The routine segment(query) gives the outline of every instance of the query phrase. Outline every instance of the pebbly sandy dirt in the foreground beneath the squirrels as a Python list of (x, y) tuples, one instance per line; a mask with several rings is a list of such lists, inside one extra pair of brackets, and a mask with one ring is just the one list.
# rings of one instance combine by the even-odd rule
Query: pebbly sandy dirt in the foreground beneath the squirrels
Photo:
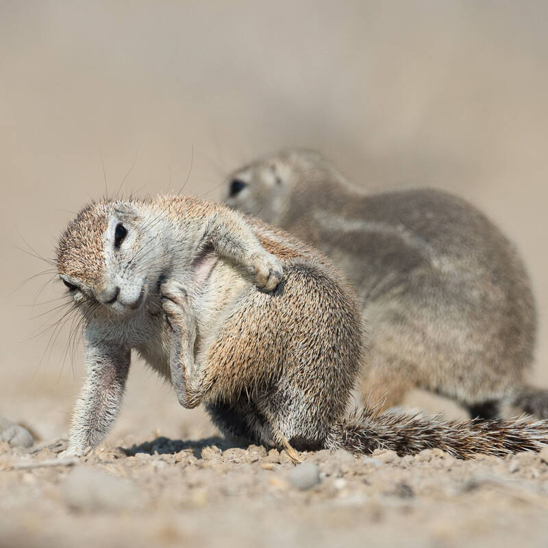
[(123, 438), (73, 466), (50, 449), (29, 456), (0, 446), (0, 545), (548, 542), (548, 451), (473, 461), (431, 449), (404, 458), (319, 451), (295, 466), (285, 452), (219, 438), (139, 442)]

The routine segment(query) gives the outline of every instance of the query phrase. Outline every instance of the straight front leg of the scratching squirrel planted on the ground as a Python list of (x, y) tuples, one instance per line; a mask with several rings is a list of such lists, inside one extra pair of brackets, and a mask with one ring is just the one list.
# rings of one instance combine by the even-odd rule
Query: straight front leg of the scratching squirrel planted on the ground
[(67, 453), (82, 455), (108, 434), (120, 410), (129, 360), (129, 349), (86, 340), (87, 377), (73, 412)]

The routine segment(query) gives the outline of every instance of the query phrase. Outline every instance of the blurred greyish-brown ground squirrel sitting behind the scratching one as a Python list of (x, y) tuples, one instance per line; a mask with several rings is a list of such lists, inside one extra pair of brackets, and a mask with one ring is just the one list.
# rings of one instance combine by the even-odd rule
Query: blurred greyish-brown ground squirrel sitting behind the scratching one
[(525, 384), (534, 297), (513, 245), (466, 201), (432, 189), (369, 194), (319, 153), (260, 158), (232, 175), (225, 202), (334, 260), (366, 325), (362, 395), (401, 403), (411, 388), (471, 416), (548, 418), (548, 393)]

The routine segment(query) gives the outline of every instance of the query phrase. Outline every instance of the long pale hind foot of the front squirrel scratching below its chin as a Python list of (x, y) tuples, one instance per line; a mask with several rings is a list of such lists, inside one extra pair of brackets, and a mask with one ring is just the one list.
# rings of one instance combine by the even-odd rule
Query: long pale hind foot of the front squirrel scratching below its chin
[(203, 387), (194, 360), (196, 321), (186, 290), (175, 280), (160, 287), (162, 308), (169, 322), (169, 367), (171, 384), (184, 408), (195, 408), (201, 402)]

